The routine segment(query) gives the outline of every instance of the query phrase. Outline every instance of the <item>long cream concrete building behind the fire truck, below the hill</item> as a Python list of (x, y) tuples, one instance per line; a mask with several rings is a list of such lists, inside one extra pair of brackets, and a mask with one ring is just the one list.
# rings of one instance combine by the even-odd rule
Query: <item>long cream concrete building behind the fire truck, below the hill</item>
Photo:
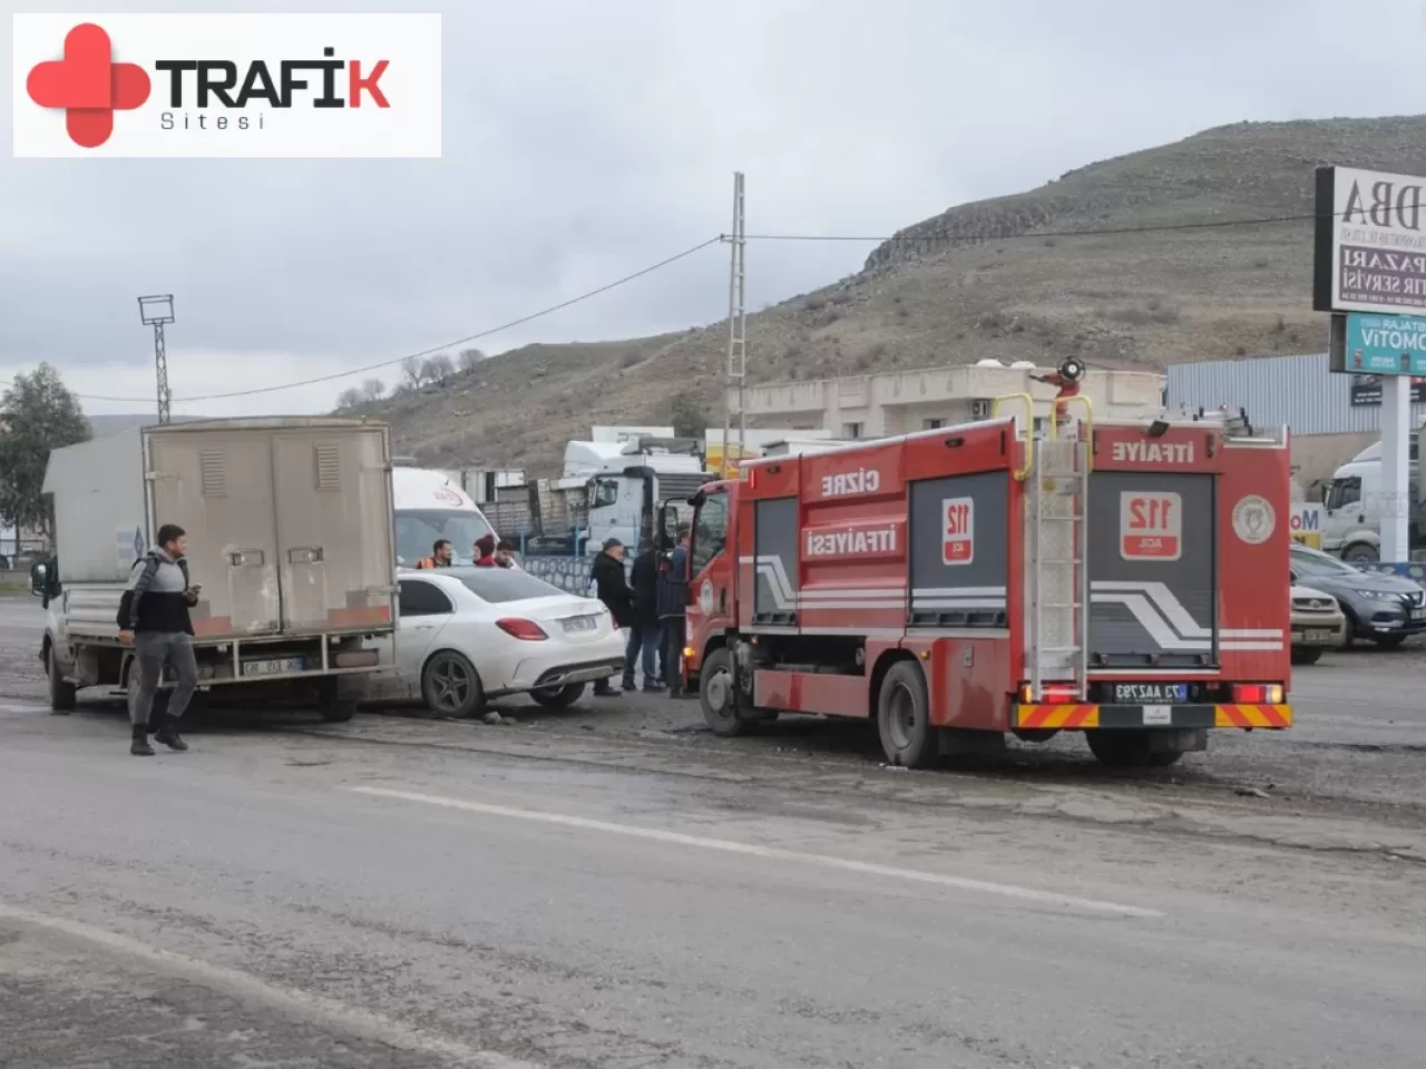
[[(1031, 375), (1048, 371), (963, 365), (749, 386), (747, 426), (830, 430), (848, 439), (887, 438), (984, 419), (991, 401), (1007, 393), (1028, 393), (1037, 415), (1044, 416), (1055, 388), (1035, 382)], [(1162, 410), (1164, 376), (1091, 368), (1084, 393), (1097, 419), (1137, 419)], [(736, 389), (729, 393), (729, 406), (736, 428)]]

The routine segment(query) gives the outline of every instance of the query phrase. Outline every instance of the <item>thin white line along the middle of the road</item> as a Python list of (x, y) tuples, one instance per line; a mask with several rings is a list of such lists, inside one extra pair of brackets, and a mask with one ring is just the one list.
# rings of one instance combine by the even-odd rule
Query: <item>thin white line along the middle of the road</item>
[(509, 805), (489, 805), (486, 802), (466, 801), (463, 798), (448, 798), (439, 794), (395, 791), (386, 787), (342, 787), (339, 790), (352, 791), (354, 794), (369, 794), (376, 798), (395, 798), (399, 801), (425, 802), (426, 805), (443, 805), (449, 810), (483, 812), (491, 817), (511, 817), (513, 820), (556, 824), (565, 828), (579, 828), (582, 831), (603, 831), (610, 835), (629, 835), (632, 838), (653, 840), (655, 842), (672, 842), (680, 847), (719, 849), (726, 854), (744, 854), (747, 857), (767, 858), (771, 861), (799, 861), (809, 865), (821, 865), (823, 868), (840, 868), (846, 872), (910, 879), (918, 884), (937, 884), (940, 887), (954, 887), (961, 891), (978, 891), (983, 894), (1002, 895), (1005, 898), (1018, 898), (1025, 902), (1041, 902), (1045, 905), (1085, 909), (1095, 914), (1164, 916), (1164, 914), (1156, 909), (1144, 909), (1135, 905), (1118, 905), (1117, 902), (1102, 902), (1095, 898), (1078, 898), (1075, 895), (1064, 895), (1057, 891), (1038, 891), (1031, 887), (1015, 887), (1014, 884), (992, 884), (984, 879), (973, 879), (970, 877), (953, 877), (943, 872), (924, 872), (915, 868), (878, 865), (870, 861), (854, 861), (851, 858), (838, 858), (829, 854), (803, 854), (801, 851), (783, 849), (780, 847), (759, 847), (752, 842), (713, 840), (702, 835), (684, 835), (679, 831), (643, 828), (636, 824), (612, 824), (609, 821), (596, 821), (586, 817), (566, 817), (559, 812), (543, 812), (540, 810), (516, 810)]

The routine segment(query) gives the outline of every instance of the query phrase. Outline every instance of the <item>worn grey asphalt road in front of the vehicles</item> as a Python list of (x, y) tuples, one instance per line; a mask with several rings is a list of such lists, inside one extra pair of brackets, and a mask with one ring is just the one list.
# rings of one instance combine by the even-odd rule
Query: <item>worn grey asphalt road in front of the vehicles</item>
[[(1423, 777), (1342, 785), (1405, 775), (1419, 653), (1302, 670), (1298, 733), (1172, 777), (891, 771), (643, 696), (138, 760), (37, 701), (33, 620), (0, 604), (6, 1069), (1422, 1063)], [(1320, 791), (1221, 768), (1302, 761)]]

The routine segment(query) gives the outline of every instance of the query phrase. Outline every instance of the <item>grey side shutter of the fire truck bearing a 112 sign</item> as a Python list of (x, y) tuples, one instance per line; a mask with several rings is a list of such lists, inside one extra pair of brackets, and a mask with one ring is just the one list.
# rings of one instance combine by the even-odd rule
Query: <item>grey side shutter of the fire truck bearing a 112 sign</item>
[(911, 483), (911, 627), (1005, 627), (1010, 472)]

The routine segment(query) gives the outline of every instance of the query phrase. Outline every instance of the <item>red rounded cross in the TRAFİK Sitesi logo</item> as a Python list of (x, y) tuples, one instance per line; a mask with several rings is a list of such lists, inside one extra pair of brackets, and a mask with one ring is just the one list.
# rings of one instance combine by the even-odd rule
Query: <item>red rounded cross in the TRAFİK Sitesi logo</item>
[(114, 133), (114, 111), (148, 100), (148, 71), (114, 63), (108, 34), (94, 23), (70, 30), (64, 58), (37, 64), (24, 83), (41, 108), (64, 108), (64, 128), (84, 148), (97, 148)]

